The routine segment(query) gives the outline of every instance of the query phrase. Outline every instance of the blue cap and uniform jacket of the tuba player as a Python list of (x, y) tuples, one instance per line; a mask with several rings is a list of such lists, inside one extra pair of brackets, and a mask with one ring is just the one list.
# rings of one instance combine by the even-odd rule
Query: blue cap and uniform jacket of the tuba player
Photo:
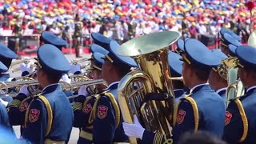
[[(192, 38), (185, 42), (185, 54), (182, 55), (182, 59), (198, 68), (210, 69), (220, 64), (202, 42)], [(180, 100), (174, 112), (174, 119), (176, 124), (172, 131), (173, 136), (154, 134), (145, 130), (141, 143), (177, 143), (178, 138), (189, 130), (206, 130), (222, 136), (224, 102), (209, 84), (202, 83), (191, 88), (190, 94)]]

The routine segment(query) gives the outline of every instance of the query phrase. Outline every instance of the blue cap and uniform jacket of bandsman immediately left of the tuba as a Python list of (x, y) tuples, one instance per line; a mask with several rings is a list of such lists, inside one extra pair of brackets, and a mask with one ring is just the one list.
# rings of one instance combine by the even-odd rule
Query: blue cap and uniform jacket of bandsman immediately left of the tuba
[[(114, 66), (122, 66), (123, 69), (137, 66), (134, 59), (116, 54), (119, 47), (118, 42), (111, 41), (109, 47), (110, 52), (106, 55), (106, 60)], [(122, 128), (123, 120), (118, 107), (117, 88), (118, 82), (111, 83), (106, 89), (107, 92), (101, 94), (94, 103), (93, 118), (91, 119), (94, 127), (94, 143), (128, 142)]]

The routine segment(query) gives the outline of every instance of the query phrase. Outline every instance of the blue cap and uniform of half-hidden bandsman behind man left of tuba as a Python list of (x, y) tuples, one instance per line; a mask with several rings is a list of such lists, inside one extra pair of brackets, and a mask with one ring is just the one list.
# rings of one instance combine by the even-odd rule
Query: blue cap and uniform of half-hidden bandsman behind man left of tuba
[[(94, 62), (92, 62), (93, 66), (91, 66), (91, 68), (94, 68), (96, 70), (102, 70), (102, 65), (104, 63), (104, 60), (102, 58), (104, 57), (105, 56), (103, 54), (94, 52), (94, 54), (92, 55), (92, 59)], [(100, 90), (98, 94), (101, 94), (101, 93), (102, 93), (102, 90)], [(80, 128), (78, 144), (92, 143), (93, 124), (92, 122), (90, 122), (90, 115), (91, 115), (91, 110), (94, 106), (94, 102), (98, 98), (98, 94), (90, 95), (90, 96), (79, 95), (74, 102), (74, 106), (73, 106), (74, 125), (73, 126)]]

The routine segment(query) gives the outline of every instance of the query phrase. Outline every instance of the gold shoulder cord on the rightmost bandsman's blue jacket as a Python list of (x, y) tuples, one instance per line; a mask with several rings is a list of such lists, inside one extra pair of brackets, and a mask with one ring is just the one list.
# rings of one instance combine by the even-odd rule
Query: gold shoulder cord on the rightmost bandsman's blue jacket
[(241, 118), (242, 118), (243, 133), (242, 133), (242, 138), (240, 138), (239, 142), (243, 142), (246, 139), (248, 134), (248, 120), (246, 118), (245, 110), (242, 107), (242, 102), (238, 98), (235, 99), (234, 102), (237, 104), (239, 114), (241, 115)]

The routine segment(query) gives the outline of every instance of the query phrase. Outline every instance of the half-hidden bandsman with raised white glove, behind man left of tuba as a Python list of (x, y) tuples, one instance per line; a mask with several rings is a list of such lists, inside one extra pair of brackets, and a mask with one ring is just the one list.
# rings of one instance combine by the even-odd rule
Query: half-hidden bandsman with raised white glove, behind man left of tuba
[[(94, 80), (102, 78), (102, 65), (104, 63), (103, 54), (98, 52), (94, 52), (92, 55), (92, 66), (91, 76)], [(74, 112), (74, 127), (80, 128), (80, 134), (78, 139), (78, 144), (86, 144), (92, 143), (93, 126), (90, 122), (90, 114), (91, 110), (94, 106), (94, 102), (98, 98), (98, 94), (101, 94), (104, 89), (106, 89), (105, 85), (98, 84), (96, 85), (96, 89), (98, 90), (97, 94), (90, 94), (90, 91), (87, 90), (86, 86), (80, 87), (78, 90), (78, 98), (76, 98), (73, 106)]]

